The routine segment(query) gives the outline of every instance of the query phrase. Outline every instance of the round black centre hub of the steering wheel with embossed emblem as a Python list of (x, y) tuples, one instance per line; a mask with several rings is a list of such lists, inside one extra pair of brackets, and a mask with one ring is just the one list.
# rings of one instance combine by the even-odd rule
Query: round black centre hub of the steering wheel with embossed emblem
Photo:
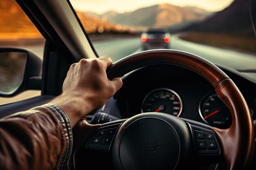
[(183, 155), (180, 136), (184, 137), (186, 125), (180, 119), (176, 121), (177, 117), (162, 113), (140, 115), (143, 116), (128, 119), (119, 129), (113, 165), (124, 170), (175, 169)]

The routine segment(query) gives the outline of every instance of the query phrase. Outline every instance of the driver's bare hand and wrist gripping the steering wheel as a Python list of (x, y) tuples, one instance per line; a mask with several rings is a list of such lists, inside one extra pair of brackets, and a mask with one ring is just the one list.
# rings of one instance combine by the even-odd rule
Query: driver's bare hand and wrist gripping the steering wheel
[(50, 103), (61, 107), (73, 127), (93, 110), (101, 108), (123, 85), (120, 77), (109, 80), (110, 57), (82, 59), (72, 64), (63, 83), (63, 93)]

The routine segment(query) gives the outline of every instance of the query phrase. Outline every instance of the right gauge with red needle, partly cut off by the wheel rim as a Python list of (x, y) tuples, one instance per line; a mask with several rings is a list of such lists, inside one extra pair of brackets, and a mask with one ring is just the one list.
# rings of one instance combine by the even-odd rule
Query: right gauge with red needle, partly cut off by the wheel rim
[(199, 104), (199, 113), (202, 119), (210, 125), (230, 126), (232, 123), (229, 109), (215, 92), (202, 99)]

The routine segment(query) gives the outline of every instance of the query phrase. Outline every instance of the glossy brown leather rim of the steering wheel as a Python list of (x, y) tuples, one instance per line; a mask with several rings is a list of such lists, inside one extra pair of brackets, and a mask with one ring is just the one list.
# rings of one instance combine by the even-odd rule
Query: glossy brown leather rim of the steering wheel
[(150, 65), (169, 64), (195, 71), (207, 79), (229, 108), (232, 124), (227, 129), (212, 128), (222, 144), (227, 170), (247, 169), (254, 155), (254, 126), (247, 103), (236, 84), (216, 65), (191, 53), (176, 50), (149, 50), (129, 55), (110, 66), (109, 79)]

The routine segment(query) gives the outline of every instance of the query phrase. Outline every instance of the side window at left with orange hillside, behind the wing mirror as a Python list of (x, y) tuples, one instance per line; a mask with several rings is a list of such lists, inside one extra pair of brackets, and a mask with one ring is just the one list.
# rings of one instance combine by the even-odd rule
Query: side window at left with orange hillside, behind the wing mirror
[[(12, 46), (26, 48), (34, 51), (38, 56), (43, 58), (45, 39), (15, 0), (0, 0), (0, 16), (0, 47)], [(8, 56), (3, 55), (2, 60), (0, 60), (0, 66), (10, 64), (11, 59), (13, 59), (18, 61), (19, 67), (16, 68), (20, 68), (22, 70), (25, 62), (19, 60), (19, 58), (19, 56), (17, 57), (13, 54)], [(5, 81), (7, 76), (12, 77), (12, 81), (20, 81), (18, 73), (18, 70), (8, 71), (4, 69), (4, 67), (1, 67), (0, 87), (2, 89), (10, 88), (10, 84)], [(14, 97), (0, 97), (0, 105), (40, 96), (40, 94), (41, 91), (39, 90), (29, 90)]]

